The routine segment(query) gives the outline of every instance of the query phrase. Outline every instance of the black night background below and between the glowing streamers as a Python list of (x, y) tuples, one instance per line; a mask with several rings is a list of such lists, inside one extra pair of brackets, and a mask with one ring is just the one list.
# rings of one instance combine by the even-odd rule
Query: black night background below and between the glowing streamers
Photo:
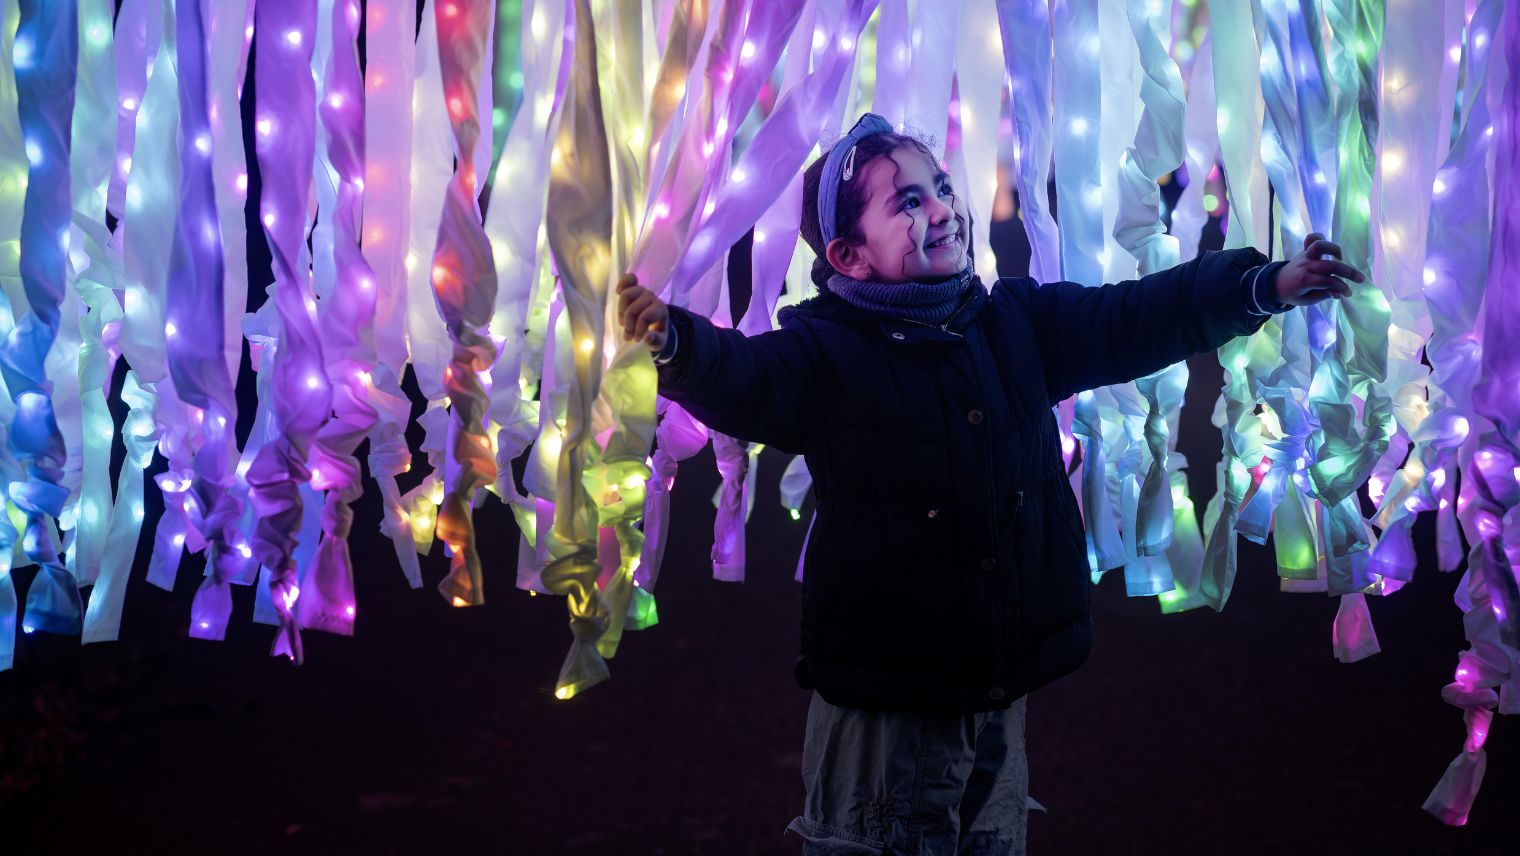
[[(252, 97), (249, 68), (245, 105)], [(254, 216), (249, 207), (257, 304), (269, 257)], [(1021, 224), (993, 228), (1002, 272), (1023, 274)], [(1210, 224), (1205, 248), (1219, 246), (1219, 228)], [(739, 307), (746, 249), (731, 258)], [(1201, 511), (1222, 377), (1213, 354), (1190, 368), (1178, 445), (1195, 462)], [(246, 360), (239, 386), (246, 435)], [(416, 398), (410, 379), (409, 389)], [(796, 853), (781, 830), (803, 800), (809, 696), (792, 683), (792, 575), (807, 509), (792, 522), (780, 508), (784, 465), (775, 452), (760, 458), (743, 584), (710, 573), (711, 453), (682, 465), (661, 623), (625, 637), (613, 680), (572, 701), (552, 695), (570, 643), (565, 605), (512, 588), (517, 528), (494, 500), (476, 515), (491, 596), (454, 610), (432, 590), (447, 569), (438, 550), (424, 560), (427, 585), (406, 587), (366, 493), (351, 538), (356, 636), (306, 632), (299, 667), (269, 655), (272, 628), (249, 622), (251, 590), (236, 591), (223, 643), (190, 640), (199, 560), (175, 591), (154, 588), (144, 537), (120, 642), (27, 636), (0, 674), (0, 851)], [(410, 479), (424, 471), (418, 461)], [(147, 505), (144, 532), (157, 491)], [(1029, 702), (1031, 794), (1050, 809), (1031, 818), (1031, 850), (1499, 853), (1520, 797), (1509, 721), (1488, 739), (1470, 826), (1420, 810), (1465, 736), (1439, 698), (1467, 646), (1452, 604), (1459, 575), (1435, 570), (1432, 534), (1426, 515), (1415, 581), (1370, 599), (1383, 652), (1356, 664), (1332, 655), (1336, 601), (1280, 594), (1269, 547), (1240, 541), (1224, 614), (1163, 617), (1154, 599), (1125, 598), (1122, 575), (1107, 576), (1091, 660)], [(33, 573), (15, 572), (23, 598)]]

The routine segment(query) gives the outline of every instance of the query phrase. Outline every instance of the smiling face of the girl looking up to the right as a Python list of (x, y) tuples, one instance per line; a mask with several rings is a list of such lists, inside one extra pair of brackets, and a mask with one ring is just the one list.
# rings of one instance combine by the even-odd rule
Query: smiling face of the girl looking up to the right
[(950, 176), (912, 146), (865, 166), (865, 208), (856, 228), (865, 239), (836, 237), (827, 248), (834, 271), (879, 283), (932, 283), (965, 269), (970, 216)]

